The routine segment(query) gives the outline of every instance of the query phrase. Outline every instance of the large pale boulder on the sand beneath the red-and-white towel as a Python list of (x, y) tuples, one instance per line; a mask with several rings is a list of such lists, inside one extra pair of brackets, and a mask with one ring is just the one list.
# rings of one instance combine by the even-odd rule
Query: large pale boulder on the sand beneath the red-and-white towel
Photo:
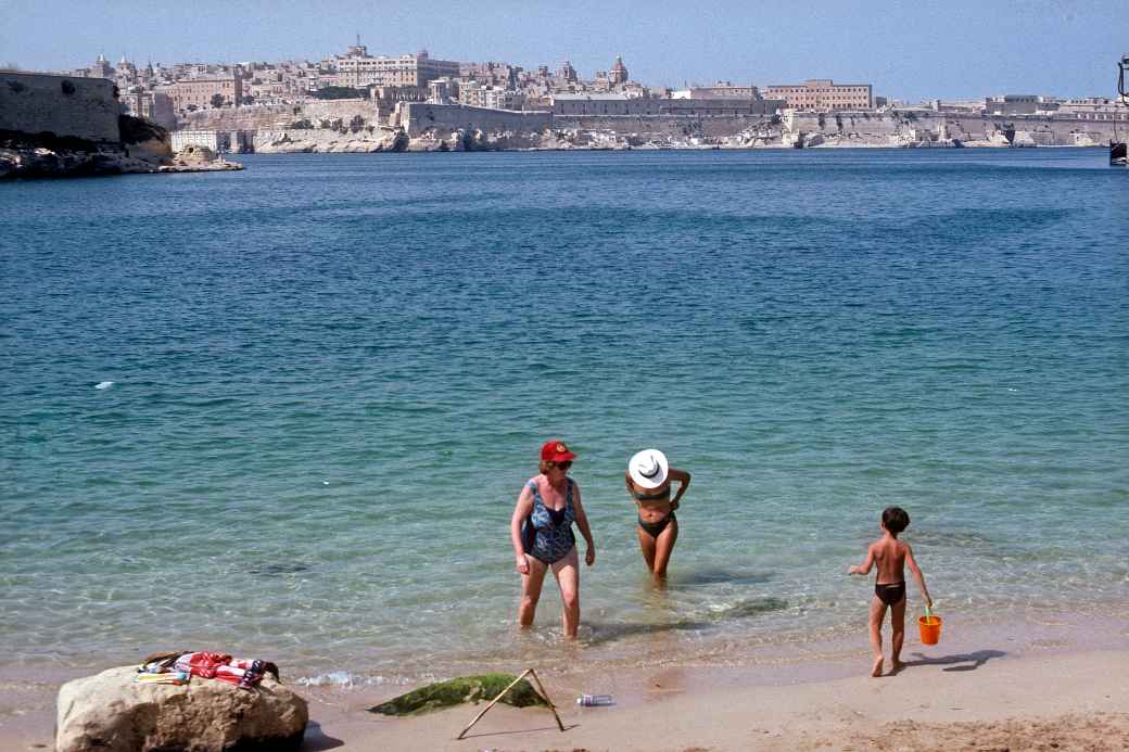
[(264, 677), (254, 690), (193, 679), (183, 687), (134, 682), (126, 666), (59, 690), (56, 752), (297, 750), (306, 701)]

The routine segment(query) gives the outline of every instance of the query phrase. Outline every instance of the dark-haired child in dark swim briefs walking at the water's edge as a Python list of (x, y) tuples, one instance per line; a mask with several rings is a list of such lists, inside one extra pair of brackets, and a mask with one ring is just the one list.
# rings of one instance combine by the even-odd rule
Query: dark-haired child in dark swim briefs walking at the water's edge
[(878, 576), (874, 585), (874, 598), (870, 601), (870, 645), (874, 647), (874, 667), (872, 676), (882, 675), (882, 622), (886, 618), (886, 606), (892, 609), (890, 618), (893, 628), (893, 652), (891, 654), (891, 673), (896, 674), (902, 667), (902, 640), (905, 638), (905, 569), (908, 565), (921, 588), (925, 602), (933, 607), (933, 598), (925, 586), (925, 577), (913, 560), (910, 546), (898, 540), (898, 535), (910, 524), (910, 516), (901, 507), (887, 507), (882, 511), (882, 537), (866, 549), (866, 559), (861, 565), (851, 565), (848, 575), (869, 575), (870, 568), (878, 566)]

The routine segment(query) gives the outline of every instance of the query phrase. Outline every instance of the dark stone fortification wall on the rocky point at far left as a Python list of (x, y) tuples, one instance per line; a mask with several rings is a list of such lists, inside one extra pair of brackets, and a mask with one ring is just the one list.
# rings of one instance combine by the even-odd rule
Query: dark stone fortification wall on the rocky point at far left
[(0, 71), (0, 130), (117, 141), (120, 112), (113, 81)]

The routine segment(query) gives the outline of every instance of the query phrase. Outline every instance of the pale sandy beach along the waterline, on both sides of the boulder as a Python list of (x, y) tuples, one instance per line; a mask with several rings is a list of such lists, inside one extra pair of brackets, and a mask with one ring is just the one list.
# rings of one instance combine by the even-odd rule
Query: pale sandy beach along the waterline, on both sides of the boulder
[[(602, 708), (574, 699), (594, 685), (603, 691), (607, 675), (545, 672), (564, 733), (544, 708), (496, 706), (463, 741), (455, 736), (482, 706), (390, 718), (368, 708), (404, 688), (303, 688), (312, 719), (303, 749), (1127, 750), (1127, 631), (1113, 623), (1078, 630), (1067, 622), (1008, 635), (970, 628), (935, 647), (910, 636), (905, 668), (881, 679), (863, 675), (865, 649), (618, 671), (616, 705)], [(58, 684), (5, 673), (0, 749), (51, 747)]]

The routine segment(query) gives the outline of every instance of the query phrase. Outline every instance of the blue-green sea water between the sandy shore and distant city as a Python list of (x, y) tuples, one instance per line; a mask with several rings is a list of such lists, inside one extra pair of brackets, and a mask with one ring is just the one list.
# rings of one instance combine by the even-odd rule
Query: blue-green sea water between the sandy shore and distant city
[[(0, 185), (5, 662), (739, 658), (858, 630), (891, 504), (949, 618), (1129, 604), (1104, 151), (245, 161)], [(558, 436), (597, 541), (567, 650), (551, 583), (513, 629), (507, 527)], [(647, 446), (693, 473), (666, 591)]]

